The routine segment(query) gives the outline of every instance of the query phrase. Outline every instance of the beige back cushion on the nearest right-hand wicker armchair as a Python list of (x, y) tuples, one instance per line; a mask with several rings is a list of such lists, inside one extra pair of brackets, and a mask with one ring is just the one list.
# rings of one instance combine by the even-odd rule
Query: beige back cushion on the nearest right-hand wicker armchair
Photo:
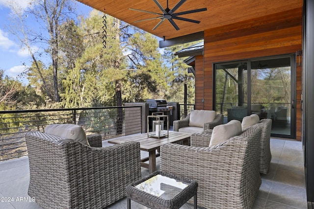
[(231, 120), (229, 123), (217, 125), (212, 130), (209, 147), (216, 146), (227, 139), (240, 135), (241, 132), (241, 122), (238, 120)]

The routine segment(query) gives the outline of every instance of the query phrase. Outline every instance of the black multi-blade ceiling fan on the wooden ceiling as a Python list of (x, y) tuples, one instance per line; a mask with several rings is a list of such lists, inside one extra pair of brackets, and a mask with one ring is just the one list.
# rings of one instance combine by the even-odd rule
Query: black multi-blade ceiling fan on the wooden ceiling
[(156, 30), (156, 28), (165, 20), (168, 20), (176, 30), (180, 30), (178, 25), (173, 21), (173, 19), (176, 20), (181, 20), (181, 21), (187, 21), (191, 23), (200, 23), (200, 21), (192, 20), (192, 19), (187, 19), (187, 18), (182, 18), (178, 17), (180, 15), (186, 15), (186, 14), (191, 14), (195, 12), (202, 12), (202, 11), (207, 11), (207, 8), (202, 8), (202, 9), (193, 9), (185, 12), (178, 12), (174, 13), (186, 0), (180, 0), (172, 9), (168, 8), (168, 0), (167, 0), (167, 8), (163, 8), (161, 4), (158, 2), (158, 0), (154, 0), (154, 2), (157, 4), (159, 9), (161, 10), (162, 13), (157, 13), (157, 12), (150, 12), (150, 11), (145, 11), (145, 10), (140, 10), (140, 9), (133, 9), (130, 8), (131, 10), (138, 11), (138, 12), (146, 12), (154, 15), (159, 15), (159, 17), (156, 18), (149, 18), (149, 19), (144, 19), (144, 20), (139, 20), (135, 21), (134, 23), (142, 22), (142, 21), (149, 21), (149, 20), (155, 20), (155, 19), (161, 19), (159, 23), (153, 28), (153, 30)]

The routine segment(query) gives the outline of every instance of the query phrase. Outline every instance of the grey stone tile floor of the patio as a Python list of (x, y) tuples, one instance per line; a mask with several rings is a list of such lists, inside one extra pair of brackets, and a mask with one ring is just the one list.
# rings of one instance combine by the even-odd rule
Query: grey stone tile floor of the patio
[[(103, 146), (108, 146), (103, 141)], [(262, 186), (253, 209), (307, 209), (302, 143), (271, 139), (272, 160), (268, 173), (262, 175)], [(144, 157), (147, 153), (141, 153)], [(146, 156), (145, 156), (146, 157)], [(158, 169), (157, 159), (157, 169)], [(142, 168), (142, 176), (148, 170)], [(0, 209), (41, 209), (27, 195), (29, 183), (28, 158), (0, 162)], [(131, 202), (132, 209), (147, 209)], [(106, 209), (126, 209), (126, 198)], [(185, 204), (182, 209), (192, 209)]]

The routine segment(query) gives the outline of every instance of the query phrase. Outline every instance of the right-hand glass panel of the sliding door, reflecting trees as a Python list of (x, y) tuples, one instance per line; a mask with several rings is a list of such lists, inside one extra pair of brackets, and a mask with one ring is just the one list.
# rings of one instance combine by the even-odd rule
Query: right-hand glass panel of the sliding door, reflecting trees
[(290, 56), (251, 62), (251, 110), (262, 104), (262, 118), (272, 119), (272, 134), (291, 135)]

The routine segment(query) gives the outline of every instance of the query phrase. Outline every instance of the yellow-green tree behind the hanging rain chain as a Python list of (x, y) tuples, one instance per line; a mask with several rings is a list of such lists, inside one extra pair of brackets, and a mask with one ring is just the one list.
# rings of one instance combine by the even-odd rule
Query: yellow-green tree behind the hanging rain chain
[[(78, 33), (76, 38), (81, 40), (81, 48), (78, 53), (68, 52), (68, 54), (75, 54), (76, 57), (68, 59), (73, 63), (65, 66), (67, 73), (62, 81), (64, 93), (61, 94), (65, 107), (113, 104), (112, 98), (116, 96), (113, 93), (116, 81), (126, 77), (126, 73), (120, 68), (126, 68), (127, 64), (123, 59), (120, 41), (116, 39), (119, 30), (115, 27), (115, 21), (112, 17), (107, 18), (109, 40), (105, 49), (102, 44), (102, 13), (94, 10), (90, 17), (83, 20), (75, 29)], [(73, 31), (73, 26), (67, 28)], [(69, 36), (73, 38), (73, 33), (66, 34), (64, 40), (68, 40)]]

